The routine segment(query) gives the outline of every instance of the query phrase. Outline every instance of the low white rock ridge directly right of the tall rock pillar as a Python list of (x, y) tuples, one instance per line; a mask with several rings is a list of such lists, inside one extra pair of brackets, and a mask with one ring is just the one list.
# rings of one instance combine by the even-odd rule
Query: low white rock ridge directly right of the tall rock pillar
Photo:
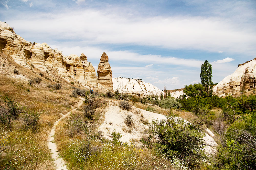
[(137, 95), (139, 97), (144, 97), (147, 95), (164, 95), (164, 92), (157, 88), (156, 86), (145, 83), (141, 80), (136, 79), (126, 79), (126, 78), (113, 78), (113, 90), (119, 93), (128, 93)]

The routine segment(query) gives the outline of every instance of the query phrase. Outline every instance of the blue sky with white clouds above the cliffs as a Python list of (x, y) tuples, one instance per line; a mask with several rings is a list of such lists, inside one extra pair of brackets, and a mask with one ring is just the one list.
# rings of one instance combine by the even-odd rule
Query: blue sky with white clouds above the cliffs
[(105, 52), (112, 77), (162, 90), (200, 83), (205, 60), (218, 83), (256, 57), (255, 0), (0, 0), (0, 21), (95, 70)]

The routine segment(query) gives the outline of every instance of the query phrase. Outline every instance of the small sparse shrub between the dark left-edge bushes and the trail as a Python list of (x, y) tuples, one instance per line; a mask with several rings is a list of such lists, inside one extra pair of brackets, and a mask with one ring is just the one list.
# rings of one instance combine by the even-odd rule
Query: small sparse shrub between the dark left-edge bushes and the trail
[(25, 113), (23, 113), (22, 121), (26, 128), (35, 128), (38, 126), (39, 116), (39, 113), (27, 110)]

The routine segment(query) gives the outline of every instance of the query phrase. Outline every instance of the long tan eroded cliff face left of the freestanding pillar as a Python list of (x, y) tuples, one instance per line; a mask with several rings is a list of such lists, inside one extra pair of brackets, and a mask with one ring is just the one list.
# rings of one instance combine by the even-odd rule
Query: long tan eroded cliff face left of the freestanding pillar
[(81, 85), (97, 87), (96, 72), (84, 54), (80, 57), (64, 56), (57, 48), (51, 49), (46, 43), (32, 44), (1, 21), (0, 50), (22, 66), (35, 67), (42, 72), (47, 69), (56, 69), (58, 74), (68, 82), (77, 81)]

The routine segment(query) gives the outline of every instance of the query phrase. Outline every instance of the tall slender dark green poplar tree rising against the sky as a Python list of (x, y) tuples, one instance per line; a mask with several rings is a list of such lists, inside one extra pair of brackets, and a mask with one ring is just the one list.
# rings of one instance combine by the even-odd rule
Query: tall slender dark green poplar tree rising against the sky
[(202, 85), (205, 87), (205, 92), (207, 93), (207, 96), (211, 96), (213, 87), (213, 83), (211, 81), (212, 70), (211, 64), (207, 60), (205, 60), (205, 62), (201, 66), (200, 78)]

